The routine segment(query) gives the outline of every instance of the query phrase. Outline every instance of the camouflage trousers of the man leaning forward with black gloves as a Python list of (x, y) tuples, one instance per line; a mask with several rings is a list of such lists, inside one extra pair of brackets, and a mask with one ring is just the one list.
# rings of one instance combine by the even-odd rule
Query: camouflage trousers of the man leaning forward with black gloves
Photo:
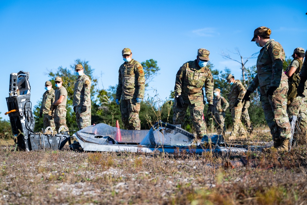
[(191, 120), (193, 127), (196, 130), (197, 138), (202, 138), (204, 135), (207, 135), (207, 126), (202, 119), (205, 107), (203, 101), (197, 102), (195, 104), (191, 104), (190, 101), (185, 101), (183, 107), (179, 108), (177, 107), (177, 99), (175, 98), (173, 104), (173, 124), (184, 123), (184, 118), (188, 107), (190, 109)]

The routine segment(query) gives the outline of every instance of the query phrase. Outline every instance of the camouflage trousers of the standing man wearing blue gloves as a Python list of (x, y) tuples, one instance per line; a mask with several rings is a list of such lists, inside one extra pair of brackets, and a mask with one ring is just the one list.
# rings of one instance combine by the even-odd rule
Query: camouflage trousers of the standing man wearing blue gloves
[(136, 99), (121, 100), (120, 112), (122, 113), (122, 123), (128, 130), (140, 130), (141, 120), (138, 116), (141, 103), (137, 103)]

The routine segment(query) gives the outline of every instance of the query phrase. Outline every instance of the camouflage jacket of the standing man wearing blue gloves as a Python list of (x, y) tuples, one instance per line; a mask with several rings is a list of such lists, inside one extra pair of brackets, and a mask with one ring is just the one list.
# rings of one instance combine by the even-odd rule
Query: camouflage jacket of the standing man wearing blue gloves
[(142, 65), (132, 59), (119, 67), (116, 99), (144, 98), (145, 77)]

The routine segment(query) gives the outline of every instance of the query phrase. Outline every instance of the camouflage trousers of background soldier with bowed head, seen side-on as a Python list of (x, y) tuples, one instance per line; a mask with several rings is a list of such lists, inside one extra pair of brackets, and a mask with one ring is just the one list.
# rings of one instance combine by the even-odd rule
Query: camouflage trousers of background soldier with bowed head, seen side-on
[(241, 122), (242, 107), (243, 107), (243, 104), (239, 102), (237, 107), (233, 107), (230, 109), (232, 123), (233, 123), (230, 137), (233, 139), (235, 138), (237, 133), (239, 133), (240, 137), (246, 137), (246, 129), (244, 128)]

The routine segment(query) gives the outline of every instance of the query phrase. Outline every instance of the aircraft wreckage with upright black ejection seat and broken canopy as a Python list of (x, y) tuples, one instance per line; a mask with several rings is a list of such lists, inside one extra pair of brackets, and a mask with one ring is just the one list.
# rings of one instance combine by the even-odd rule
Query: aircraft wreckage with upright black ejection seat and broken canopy
[(20, 71), (10, 74), (9, 97), (6, 98), (12, 132), (15, 143), (21, 150), (51, 148), (62, 149), (68, 142), (72, 150), (99, 152), (247, 152), (261, 151), (264, 146), (229, 146), (222, 135), (206, 135), (196, 144), (193, 134), (164, 122), (156, 122), (150, 130), (123, 130), (107, 124), (88, 126), (74, 133), (78, 141), (71, 143), (69, 132), (75, 130), (58, 130), (54, 134), (51, 128), (34, 132), (35, 120), (30, 102), (29, 73)]

